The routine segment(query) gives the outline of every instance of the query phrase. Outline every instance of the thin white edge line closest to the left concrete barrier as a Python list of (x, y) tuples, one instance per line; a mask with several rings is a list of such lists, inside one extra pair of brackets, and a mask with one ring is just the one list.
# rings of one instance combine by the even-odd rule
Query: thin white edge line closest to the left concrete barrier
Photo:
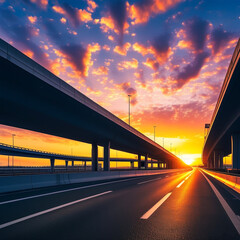
[(137, 178), (134, 178), (134, 179), (123, 179), (123, 180), (117, 180), (117, 181), (111, 181), (111, 182), (105, 182), (105, 183), (97, 183), (97, 184), (87, 185), (87, 186), (83, 186), (83, 187), (70, 188), (70, 189), (65, 189), (65, 190), (60, 190), (60, 191), (55, 191), (55, 192), (33, 195), (33, 196), (29, 196), (29, 197), (17, 198), (17, 199), (12, 199), (12, 200), (8, 200), (8, 201), (0, 202), (0, 205), (13, 203), (13, 202), (18, 202), (18, 201), (23, 201), (23, 200), (32, 199), (32, 198), (54, 195), (54, 194), (58, 194), (58, 193), (76, 191), (76, 190), (85, 189), (85, 188), (93, 188), (93, 187), (108, 185), (108, 184), (112, 184), (112, 183), (126, 182), (126, 181), (130, 181), (130, 180), (135, 180), (135, 179), (138, 179), (138, 178), (140, 178), (140, 177), (137, 177)]

